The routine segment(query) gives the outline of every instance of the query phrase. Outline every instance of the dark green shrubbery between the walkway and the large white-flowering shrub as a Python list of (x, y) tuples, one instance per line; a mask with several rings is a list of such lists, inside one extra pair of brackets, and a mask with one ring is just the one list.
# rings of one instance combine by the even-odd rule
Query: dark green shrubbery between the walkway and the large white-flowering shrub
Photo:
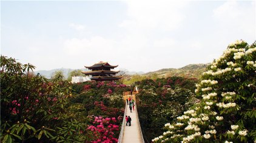
[(160, 135), (163, 125), (195, 103), (196, 79), (169, 77), (136, 82), (137, 108), (146, 140)]

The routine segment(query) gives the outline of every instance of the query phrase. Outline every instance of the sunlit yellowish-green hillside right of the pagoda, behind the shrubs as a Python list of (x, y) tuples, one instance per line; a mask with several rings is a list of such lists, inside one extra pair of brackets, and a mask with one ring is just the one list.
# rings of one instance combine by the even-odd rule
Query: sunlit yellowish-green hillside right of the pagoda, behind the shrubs
[(145, 73), (144, 75), (150, 76), (157, 74), (159, 78), (169, 76), (183, 76), (186, 78), (200, 78), (201, 74), (206, 70), (210, 64), (189, 64), (181, 68), (163, 68), (161, 70)]

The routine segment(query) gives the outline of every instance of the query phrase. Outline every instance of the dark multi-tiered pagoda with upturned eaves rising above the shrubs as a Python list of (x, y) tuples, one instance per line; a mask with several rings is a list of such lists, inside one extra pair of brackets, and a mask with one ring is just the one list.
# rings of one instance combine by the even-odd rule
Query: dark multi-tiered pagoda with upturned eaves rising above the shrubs
[[(84, 66), (86, 67), (86, 66)], [(91, 80), (95, 81), (116, 81), (121, 79), (122, 76), (115, 76), (119, 71), (112, 71), (111, 69), (118, 67), (118, 65), (110, 65), (107, 62), (99, 62), (90, 67), (86, 67), (92, 71), (82, 71), (82, 73), (86, 76), (91, 75)]]

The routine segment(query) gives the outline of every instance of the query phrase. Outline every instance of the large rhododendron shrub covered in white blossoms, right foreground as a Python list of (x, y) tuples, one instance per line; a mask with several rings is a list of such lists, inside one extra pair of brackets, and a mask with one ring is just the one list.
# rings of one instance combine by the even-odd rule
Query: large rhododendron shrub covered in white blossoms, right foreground
[(230, 44), (201, 76), (201, 98), (152, 142), (256, 142), (256, 42)]

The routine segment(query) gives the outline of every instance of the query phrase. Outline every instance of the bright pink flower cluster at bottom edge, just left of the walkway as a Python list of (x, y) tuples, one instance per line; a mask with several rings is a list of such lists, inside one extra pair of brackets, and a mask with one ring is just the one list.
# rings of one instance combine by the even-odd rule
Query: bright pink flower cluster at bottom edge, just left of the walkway
[(95, 117), (93, 125), (90, 125), (87, 130), (93, 131), (93, 135), (96, 137), (96, 142), (118, 142), (118, 139), (114, 138), (115, 131), (119, 130), (119, 126), (112, 124), (115, 123), (115, 118), (102, 118), (101, 116)]

